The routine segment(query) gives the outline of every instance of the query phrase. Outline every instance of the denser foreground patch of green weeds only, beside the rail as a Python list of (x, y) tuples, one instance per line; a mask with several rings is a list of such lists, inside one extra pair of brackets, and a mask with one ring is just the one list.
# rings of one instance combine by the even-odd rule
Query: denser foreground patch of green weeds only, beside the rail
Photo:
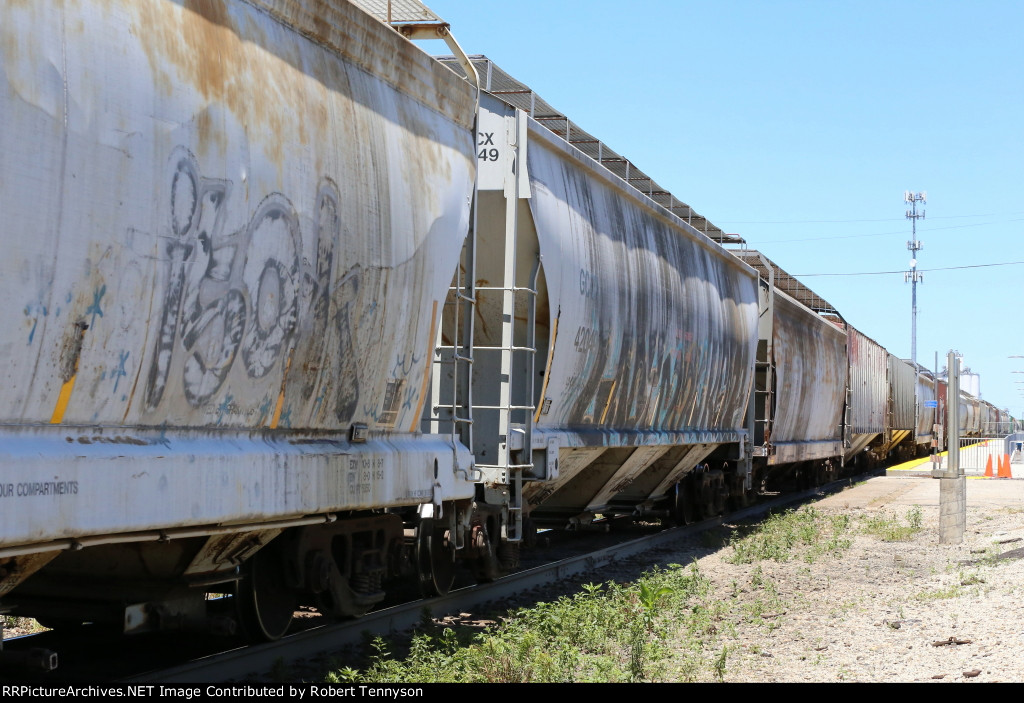
[[(630, 683), (719, 679), (730, 651), (728, 607), (696, 565), (655, 568), (630, 584), (509, 612), (483, 631), (421, 626), (408, 648), (380, 638), (362, 669), (329, 683)], [(711, 652), (709, 656), (707, 651)], [(669, 671), (669, 662), (682, 662)]]

